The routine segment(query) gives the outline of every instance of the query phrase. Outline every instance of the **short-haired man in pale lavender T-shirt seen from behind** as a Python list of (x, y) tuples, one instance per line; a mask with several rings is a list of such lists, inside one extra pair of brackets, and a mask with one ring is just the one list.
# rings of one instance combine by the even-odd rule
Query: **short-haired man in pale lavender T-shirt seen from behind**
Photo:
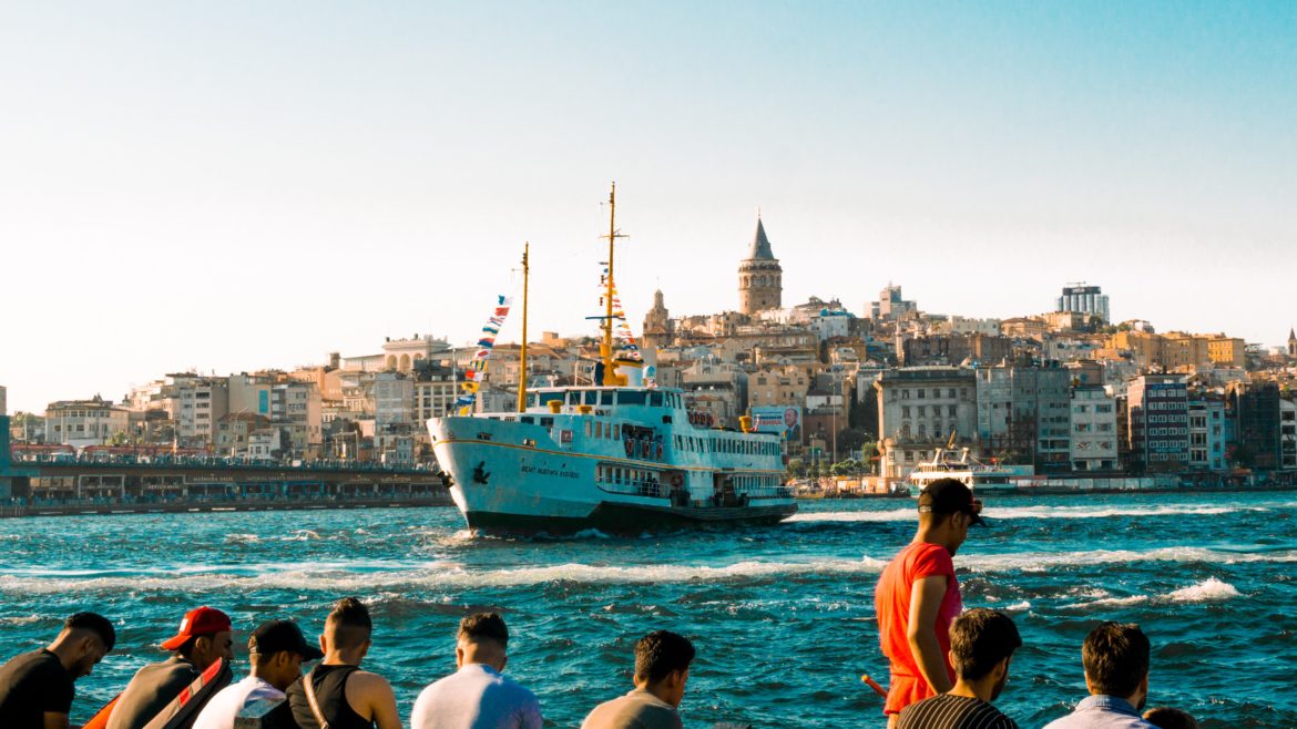
[(494, 612), (459, 621), (455, 667), (419, 694), (411, 729), (541, 729), (541, 704), (532, 691), (503, 675), (508, 628)]

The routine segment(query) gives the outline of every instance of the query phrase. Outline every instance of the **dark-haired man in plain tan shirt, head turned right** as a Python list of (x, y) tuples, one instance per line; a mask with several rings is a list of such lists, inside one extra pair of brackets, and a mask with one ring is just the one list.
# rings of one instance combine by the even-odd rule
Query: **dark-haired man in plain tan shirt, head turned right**
[(581, 729), (684, 729), (681, 699), (689, 682), (694, 645), (669, 630), (654, 630), (636, 643), (636, 689), (604, 702), (581, 723)]

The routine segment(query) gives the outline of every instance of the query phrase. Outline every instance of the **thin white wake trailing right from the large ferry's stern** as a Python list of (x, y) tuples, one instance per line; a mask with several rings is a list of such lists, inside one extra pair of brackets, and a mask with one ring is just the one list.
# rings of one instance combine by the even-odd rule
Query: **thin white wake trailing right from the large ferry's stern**
[[(1285, 508), (1297, 505), (1268, 506), (1206, 506), (1201, 503), (1165, 503), (1157, 506), (1003, 506), (991, 502), (986, 507), (987, 519), (1109, 519), (1113, 516), (1219, 516), (1222, 514), (1259, 512)], [(886, 511), (802, 511), (785, 519), (785, 523), (816, 521), (913, 521), (914, 507), (890, 508)]]

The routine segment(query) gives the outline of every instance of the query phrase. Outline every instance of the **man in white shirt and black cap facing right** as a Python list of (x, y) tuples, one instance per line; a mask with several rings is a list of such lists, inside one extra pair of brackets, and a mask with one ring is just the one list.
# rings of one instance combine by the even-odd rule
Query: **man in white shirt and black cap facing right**
[(239, 712), (258, 700), (284, 700), (284, 691), (302, 675), (303, 660), (319, 660), (324, 654), (302, 637), (291, 620), (262, 623), (248, 637), (252, 672), (211, 697), (193, 729), (233, 729)]

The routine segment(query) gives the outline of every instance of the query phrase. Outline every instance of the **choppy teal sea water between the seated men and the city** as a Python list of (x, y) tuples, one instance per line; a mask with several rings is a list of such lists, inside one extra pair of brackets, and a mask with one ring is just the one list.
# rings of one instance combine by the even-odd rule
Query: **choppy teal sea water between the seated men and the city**
[[(1297, 726), (1297, 494), (997, 497), (955, 559), (966, 607), (1005, 611), (1025, 645), (997, 704), (1023, 728), (1084, 694), (1080, 643), (1100, 620), (1153, 642), (1150, 706), (1204, 726)], [(636, 638), (698, 647), (686, 726), (879, 726), (886, 684), (873, 590), (914, 532), (910, 501), (803, 502), (777, 527), (576, 538), (493, 538), (450, 508), (166, 514), (0, 520), (0, 659), (79, 610), (109, 616), (117, 650), (77, 684), (74, 725), (115, 694), (191, 607), (240, 636), (289, 617), (319, 633), (329, 603), (364, 599), (364, 665), (403, 717), (454, 671), (454, 633), (501, 612), (507, 673), (547, 726), (577, 726), (632, 687)], [(240, 646), (236, 673), (246, 671)]]

